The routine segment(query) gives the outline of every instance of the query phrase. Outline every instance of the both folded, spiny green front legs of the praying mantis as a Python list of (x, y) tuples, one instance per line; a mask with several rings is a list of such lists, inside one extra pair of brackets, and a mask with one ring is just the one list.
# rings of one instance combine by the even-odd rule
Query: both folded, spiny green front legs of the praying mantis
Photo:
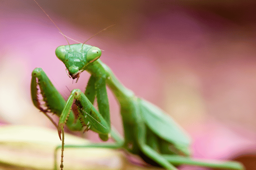
[[(65, 124), (70, 130), (82, 130), (82, 128), (86, 126), (84, 131), (93, 130), (99, 133), (102, 140), (108, 140), (110, 119), (105, 79), (92, 76), (87, 85), (86, 93), (92, 102), (95, 96), (97, 96), (97, 101), (100, 103), (100, 105), (98, 105), (99, 111), (102, 112), (102, 114), (94, 108), (91, 101), (79, 89), (73, 90), (67, 102), (65, 102), (41, 68), (35, 68), (32, 72), (31, 94), (34, 105), (46, 115), (48, 112), (52, 112), (60, 117), (57, 127), (60, 139), (61, 132), (63, 133), (61, 146), (62, 158), (64, 150), (63, 127)], [(41, 101), (39, 96), (41, 96)], [(76, 116), (71, 111), (74, 100), (78, 108), (78, 115)], [(51, 121), (53, 122), (52, 119)], [(62, 162), (63, 159), (61, 159), (61, 169), (63, 168)]]

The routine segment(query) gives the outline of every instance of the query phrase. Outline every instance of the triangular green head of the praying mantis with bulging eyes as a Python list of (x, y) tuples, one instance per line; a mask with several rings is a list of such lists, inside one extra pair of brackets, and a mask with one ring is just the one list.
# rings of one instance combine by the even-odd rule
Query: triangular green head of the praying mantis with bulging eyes
[(91, 45), (72, 44), (59, 46), (55, 54), (66, 65), (68, 74), (76, 79), (91, 63), (99, 59), (101, 50)]

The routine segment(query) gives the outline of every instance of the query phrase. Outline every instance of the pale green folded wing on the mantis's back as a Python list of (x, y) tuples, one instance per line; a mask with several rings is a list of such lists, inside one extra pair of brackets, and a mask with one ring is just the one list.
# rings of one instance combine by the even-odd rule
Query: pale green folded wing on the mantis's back
[(172, 144), (181, 147), (189, 146), (191, 139), (188, 134), (164, 111), (143, 99), (140, 102), (140, 108), (144, 122), (155, 134)]

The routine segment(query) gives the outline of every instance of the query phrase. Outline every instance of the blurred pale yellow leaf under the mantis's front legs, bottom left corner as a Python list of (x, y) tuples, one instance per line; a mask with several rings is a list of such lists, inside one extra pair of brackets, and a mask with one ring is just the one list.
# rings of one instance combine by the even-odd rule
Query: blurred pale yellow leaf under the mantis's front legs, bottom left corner
[[(65, 134), (65, 144), (90, 141)], [(1, 170), (52, 170), (54, 150), (60, 145), (57, 130), (20, 125), (0, 126)], [(57, 154), (60, 165), (61, 150)], [(64, 149), (64, 170), (159, 170), (140, 167), (126, 159), (123, 152), (111, 149)]]

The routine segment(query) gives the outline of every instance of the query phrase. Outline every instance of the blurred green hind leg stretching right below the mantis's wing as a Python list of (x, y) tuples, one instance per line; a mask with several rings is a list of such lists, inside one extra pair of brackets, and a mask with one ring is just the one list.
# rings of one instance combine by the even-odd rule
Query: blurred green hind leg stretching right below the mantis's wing
[(159, 147), (162, 147), (159, 142), (157, 142), (159, 144), (158, 146), (154, 146), (151, 144), (151, 142), (154, 142), (154, 139), (151, 139), (151, 142), (146, 141), (146, 139), (148, 139), (150, 136), (150, 130), (147, 131), (145, 124), (140, 123), (137, 127), (137, 139), (143, 152), (141, 156), (149, 164), (155, 166), (160, 165), (161, 167), (164, 167), (168, 170), (177, 170), (175, 166), (180, 165), (192, 165), (225, 170), (244, 170), (244, 166), (241, 163), (235, 161), (206, 161), (200, 159), (192, 159), (189, 156), (180, 156), (177, 154), (163, 155), (159, 150)]

